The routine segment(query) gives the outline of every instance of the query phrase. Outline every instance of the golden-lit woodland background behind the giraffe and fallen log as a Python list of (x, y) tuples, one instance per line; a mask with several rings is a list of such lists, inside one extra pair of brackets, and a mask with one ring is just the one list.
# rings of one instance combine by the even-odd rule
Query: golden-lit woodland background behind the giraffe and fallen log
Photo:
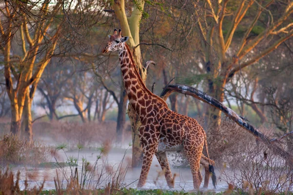
[[(2, 135), (54, 140), (63, 129), (68, 140), (87, 132), (77, 142), (90, 145), (97, 129), (116, 142), (131, 132), (139, 165), (140, 124), (118, 56), (101, 53), (114, 28), (130, 37), (154, 94), (170, 81), (193, 86), (274, 137), (293, 131), (293, 1), (1, 0), (0, 8)], [(219, 110), (175, 93), (167, 103), (201, 118), (210, 145), (227, 141)], [(292, 147), (292, 135), (284, 140)]]

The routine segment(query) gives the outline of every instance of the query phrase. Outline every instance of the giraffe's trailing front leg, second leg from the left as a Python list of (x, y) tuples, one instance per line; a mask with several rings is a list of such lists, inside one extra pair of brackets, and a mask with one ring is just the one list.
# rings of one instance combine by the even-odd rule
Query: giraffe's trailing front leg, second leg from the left
[(172, 178), (171, 169), (170, 169), (170, 165), (169, 165), (169, 162), (167, 159), (166, 152), (156, 153), (156, 156), (157, 156), (158, 161), (161, 165), (161, 168), (165, 174), (165, 178), (166, 178), (166, 181), (167, 181), (169, 188), (174, 188), (174, 181)]

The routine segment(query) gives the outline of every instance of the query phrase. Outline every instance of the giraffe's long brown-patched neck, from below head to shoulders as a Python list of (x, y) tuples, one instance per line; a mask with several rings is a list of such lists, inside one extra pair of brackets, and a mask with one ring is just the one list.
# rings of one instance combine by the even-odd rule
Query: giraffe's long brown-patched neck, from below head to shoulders
[[(129, 103), (140, 119), (143, 120), (146, 117), (146, 107), (148, 104), (152, 103), (154, 98), (161, 98), (153, 95), (146, 88), (146, 85), (144, 84), (134, 64), (132, 53), (126, 43), (124, 48), (119, 51), (119, 60)], [(164, 100), (162, 101), (166, 104)]]

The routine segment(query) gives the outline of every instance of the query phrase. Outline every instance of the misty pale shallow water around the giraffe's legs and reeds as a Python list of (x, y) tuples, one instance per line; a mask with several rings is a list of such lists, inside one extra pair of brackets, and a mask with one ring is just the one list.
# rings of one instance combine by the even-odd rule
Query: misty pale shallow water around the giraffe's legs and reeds
[[(79, 174), (80, 170), (82, 168), (82, 158), (86, 158), (87, 161), (90, 162), (90, 164), (94, 164), (96, 161), (96, 156), (98, 156), (99, 152), (93, 152), (93, 151), (81, 151), (79, 155), (79, 163), (78, 163), (78, 169)], [(77, 152), (66, 152), (67, 156), (74, 156), (77, 157)], [(58, 161), (59, 162), (65, 162), (67, 161), (67, 158), (63, 152), (59, 151), (58, 155)], [(125, 157), (125, 158), (124, 158)], [(118, 151), (110, 151), (107, 155), (107, 163), (110, 166), (118, 167), (121, 160), (124, 158), (124, 164), (126, 165), (127, 162), (129, 162), (131, 158), (131, 150), (127, 150), (126, 155), (124, 156), (124, 153), (118, 152)], [(104, 157), (105, 159), (105, 157)], [(50, 161), (55, 161), (54, 157)], [(102, 162), (102, 160), (99, 160)], [(99, 163), (100, 164), (100, 163)], [(42, 181), (45, 179), (45, 184), (43, 189), (55, 189), (54, 184), (54, 177), (57, 179), (56, 169), (58, 172), (59, 180), (66, 184), (66, 179), (63, 178), (62, 170), (59, 168), (32, 168), (32, 167), (16, 167), (13, 169), (13, 171), (16, 173), (18, 170), (21, 171), (21, 179), (20, 179), (20, 187), (21, 189), (24, 189), (24, 180), (27, 178), (29, 181), (29, 188), (33, 188), (34, 186), (38, 186), (42, 184)], [(70, 168), (65, 167), (64, 170), (67, 173), (67, 176), (70, 176)], [(149, 174), (147, 176), (146, 185), (141, 189), (169, 189), (167, 186), (167, 182), (164, 176), (158, 177), (158, 173), (161, 171), (161, 167), (159, 165), (158, 160), (156, 157), (153, 158), (153, 162), (151, 164), (151, 168), (149, 171)], [(175, 189), (174, 190), (185, 190), (185, 191), (191, 191), (193, 190), (193, 181), (192, 181), (192, 175), (189, 168), (172, 168), (171, 167), (172, 174), (176, 174), (175, 177)], [(123, 183), (125, 183), (125, 186), (127, 188), (137, 188), (137, 182), (140, 176), (141, 168), (131, 168), (129, 167), (125, 179)], [(219, 171), (215, 170), (216, 176), (219, 176)], [(202, 175), (204, 177), (204, 169), (202, 169)], [(156, 182), (155, 182), (156, 181)], [(105, 185), (104, 182), (103, 185)], [(214, 191), (213, 185), (211, 183), (211, 179), (209, 179), (209, 188), (203, 188), (204, 182), (202, 182), (200, 186), (200, 191)], [(221, 181), (217, 179), (217, 190), (215, 192), (222, 192), (225, 191), (228, 188), (228, 185), (226, 182)]]

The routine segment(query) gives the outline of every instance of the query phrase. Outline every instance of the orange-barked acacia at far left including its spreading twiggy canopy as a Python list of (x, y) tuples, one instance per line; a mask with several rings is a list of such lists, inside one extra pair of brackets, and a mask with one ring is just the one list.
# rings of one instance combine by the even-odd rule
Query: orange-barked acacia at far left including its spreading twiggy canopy
[[(31, 103), (44, 68), (54, 54), (82, 45), (92, 25), (89, 21), (99, 21), (102, 13), (99, 3), (93, 6), (88, 3), (6, 0), (0, 5), (0, 48), (13, 134), (20, 135), (23, 118), (24, 136), (32, 140)], [(22, 51), (15, 52), (14, 41), (20, 42)]]

